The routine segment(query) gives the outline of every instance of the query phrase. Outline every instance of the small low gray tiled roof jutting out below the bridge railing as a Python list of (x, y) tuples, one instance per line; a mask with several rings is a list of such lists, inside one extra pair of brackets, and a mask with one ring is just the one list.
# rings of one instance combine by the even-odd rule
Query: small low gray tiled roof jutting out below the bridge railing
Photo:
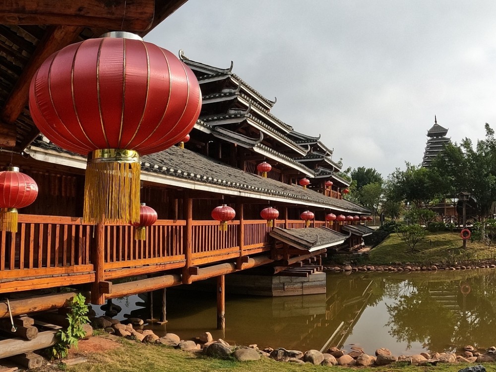
[(326, 227), (302, 229), (275, 227), (269, 234), (271, 237), (290, 243), (294, 247), (308, 250), (330, 247), (349, 237), (349, 235), (338, 233)]

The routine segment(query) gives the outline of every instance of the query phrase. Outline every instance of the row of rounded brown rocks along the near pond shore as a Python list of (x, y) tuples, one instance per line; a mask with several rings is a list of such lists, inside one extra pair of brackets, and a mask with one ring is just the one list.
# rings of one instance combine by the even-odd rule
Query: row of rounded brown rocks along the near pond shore
[[(438, 363), (486, 363), (496, 362), (496, 347), (491, 347), (484, 353), (475, 350), (471, 345), (463, 348), (459, 355), (454, 353), (421, 353), (415, 355), (391, 354), (388, 349), (375, 350), (375, 355), (368, 355), (360, 347), (353, 346), (351, 351), (335, 347), (327, 349), (325, 353), (318, 350), (286, 350), (284, 348), (266, 348), (260, 350), (256, 344), (249, 346), (231, 346), (222, 339), (214, 340), (210, 332), (205, 332), (194, 340), (181, 340), (174, 333), (167, 333), (163, 337), (157, 336), (152, 330), (143, 329), (143, 320), (138, 318), (127, 319), (124, 322), (112, 319), (109, 316), (93, 318), (94, 328), (104, 328), (107, 332), (121, 337), (135, 339), (139, 342), (157, 343), (172, 346), (189, 352), (201, 352), (212, 358), (234, 358), (240, 362), (256, 361), (260, 358), (270, 358), (277, 362), (296, 364), (311, 363), (321, 366), (387, 366), (396, 362), (409, 365), (432, 366)], [(484, 367), (474, 366), (464, 372), (485, 372)]]

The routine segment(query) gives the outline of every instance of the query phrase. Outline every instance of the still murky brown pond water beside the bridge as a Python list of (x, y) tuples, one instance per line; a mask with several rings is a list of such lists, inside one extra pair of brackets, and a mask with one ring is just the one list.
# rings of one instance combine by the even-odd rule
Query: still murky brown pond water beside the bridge
[[(224, 334), (215, 329), (215, 296), (214, 288), (168, 289), (168, 323), (145, 328), (182, 339), (209, 331), (214, 339), (232, 344), (303, 351), (330, 346), (349, 350), (355, 344), (369, 354), (386, 347), (401, 355), (496, 344), (496, 270), (329, 273), (325, 295), (262, 298), (227, 293)], [(124, 309), (118, 317), (149, 318), (142, 298), (114, 300)], [(156, 308), (155, 316), (159, 313)]]

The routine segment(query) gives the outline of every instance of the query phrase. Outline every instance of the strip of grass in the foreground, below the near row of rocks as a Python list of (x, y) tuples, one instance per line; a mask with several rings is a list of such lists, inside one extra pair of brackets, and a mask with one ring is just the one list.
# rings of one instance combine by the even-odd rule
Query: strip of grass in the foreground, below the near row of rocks
[[(109, 337), (109, 336), (98, 336)], [(295, 365), (292, 363), (275, 362), (262, 358), (257, 362), (236, 362), (234, 360), (219, 360), (196, 356), (190, 352), (175, 350), (154, 344), (141, 344), (135, 341), (114, 338), (121, 344), (114, 350), (84, 353), (87, 363), (67, 367), (71, 372), (310, 372), (325, 371), (330, 367), (314, 366), (311, 364)], [(496, 372), (496, 364), (484, 364), (488, 372)], [(438, 365), (436, 367), (386, 366), (360, 368), (363, 372), (457, 372), (467, 365)], [(335, 367), (336, 369), (338, 367)], [(357, 371), (357, 368), (339, 367), (339, 371)]]

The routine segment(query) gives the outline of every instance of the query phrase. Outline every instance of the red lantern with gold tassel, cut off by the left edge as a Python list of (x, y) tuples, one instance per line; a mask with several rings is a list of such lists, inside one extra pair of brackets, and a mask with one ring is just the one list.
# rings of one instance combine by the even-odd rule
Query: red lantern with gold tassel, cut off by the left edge
[(17, 167), (7, 167), (0, 172), (0, 230), (17, 232), (17, 208), (27, 207), (38, 196), (38, 185), (19, 172)]

